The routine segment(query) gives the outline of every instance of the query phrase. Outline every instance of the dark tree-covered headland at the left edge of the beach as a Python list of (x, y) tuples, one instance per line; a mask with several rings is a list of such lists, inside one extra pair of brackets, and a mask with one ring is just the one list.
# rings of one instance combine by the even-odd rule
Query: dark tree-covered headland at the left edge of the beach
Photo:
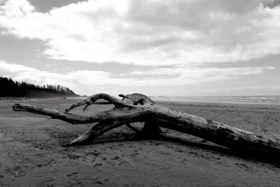
[(57, 97), (78, 96), (62, 85), (34, 85), (24, 81), (13, 81), (0, 76), (0, 97)]

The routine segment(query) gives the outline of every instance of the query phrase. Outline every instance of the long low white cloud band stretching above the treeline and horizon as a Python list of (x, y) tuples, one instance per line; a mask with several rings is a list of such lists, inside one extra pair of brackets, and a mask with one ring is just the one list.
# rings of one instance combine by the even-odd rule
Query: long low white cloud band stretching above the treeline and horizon
[[(114, 78), (105, 71), (73, 71), (67, 74), (59, 74), (25, 67), (20, 64), (8, 64), (0, 60), (0, 76), (10, 76), (17, 81), (27, 81), (39, 85), (66, 85), (70, 88), (76, 88), (78, 85), (82, 85), (83, 88), (87, 86), (93, 87), (94, 85), (133, 85), (142, 87), (193, 85), (261, 74), (269, 69), (274, 69), (274, 67), (155, 69), (151, 71), (134, 71), (130, 74), (125, 74), (125, 77)], [(135, 77), (135, 75), (138, 77)], [(172, 77), (168, 75), (172, 75)]]

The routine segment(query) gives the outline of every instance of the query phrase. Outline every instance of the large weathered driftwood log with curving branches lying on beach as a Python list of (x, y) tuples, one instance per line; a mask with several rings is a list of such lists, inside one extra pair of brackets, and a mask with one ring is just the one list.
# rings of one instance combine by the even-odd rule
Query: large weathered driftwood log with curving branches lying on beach
[[(117, 99), (104, 93), (92, 95), (81, 102), (72, 104), (65, 111), (45, 109), (27, 104), (15, 104), (13, 110), (43, 114), (71, 124), (98, 122), (90, 130), (69, 142), (66, 146), (90, 144), (95, 137), (104, 134), (104, 132), (121, 125), (127, 125), (139, 134), (146, 134), (152, 137), (162, 134), (160, 127), (165, 127), (170, 130), (192, 134), (236, 151), (280, 155), (280, 143), (278, 141), (231, 127), (224, 123), (217, 123), (213, 120), (206, 120), (181, 111), (167, 109), (155, 104), (152, 99), (145, 95), (134, 93), (119, 96), (123, 97), (123, 99)], [(98, 99), (105, 99), (106, 102), (97, 102)], [(83, 105), (85, 105), (83, 110), (86, 110), (91, 104), (113, 104), (115, 107), (108, 111), (97, 113), (94, 116), (81, 116), (70, 113), (72, 109)], [(138, 130), (133, 127), (131, 123), (135, 122), (144, 122), (143, 129)]]

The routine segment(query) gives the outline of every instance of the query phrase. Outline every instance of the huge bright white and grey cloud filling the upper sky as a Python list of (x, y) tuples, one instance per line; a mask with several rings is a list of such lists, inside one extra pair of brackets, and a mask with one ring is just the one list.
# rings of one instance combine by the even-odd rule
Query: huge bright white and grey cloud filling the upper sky
[(3, 1), (3, 34), (45, 41), (58, 60), (193, 66), (280, 53), (280, 7), (272, 0), (90, 0), (36, 12)]

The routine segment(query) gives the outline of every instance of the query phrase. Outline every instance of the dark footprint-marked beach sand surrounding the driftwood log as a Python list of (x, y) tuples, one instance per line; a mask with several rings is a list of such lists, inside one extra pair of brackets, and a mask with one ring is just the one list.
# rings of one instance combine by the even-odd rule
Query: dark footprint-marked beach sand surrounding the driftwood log
[[(64, 142), (91, 125), (70, 125), (12, 110), (17, 102), (63, 110), (76, 101), (0, 101), (0, 186), (280, 186), (278, 164), (204, 146), (208, 142), (190, 135), (165, 130), (186, 141), (137, 140), (123, 126), (94, 144), (65, 148)], [(280, 105), (157, 104), (280, 141)], [(87, 114), (106, 107), (91, 106)]]

